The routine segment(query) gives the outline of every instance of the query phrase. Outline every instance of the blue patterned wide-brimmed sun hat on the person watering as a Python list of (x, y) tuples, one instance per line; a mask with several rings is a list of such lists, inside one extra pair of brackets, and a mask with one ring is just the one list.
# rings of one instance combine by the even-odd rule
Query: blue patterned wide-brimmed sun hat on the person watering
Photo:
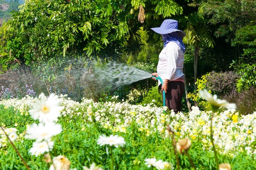
[(178, 29), (178, 21), (172, 19), (164, 20), (160, 27), (151, 29), (158, 34), (170, 34), (172, 32), (179, 31), (182, 37), (186, 35), (183, 31)]

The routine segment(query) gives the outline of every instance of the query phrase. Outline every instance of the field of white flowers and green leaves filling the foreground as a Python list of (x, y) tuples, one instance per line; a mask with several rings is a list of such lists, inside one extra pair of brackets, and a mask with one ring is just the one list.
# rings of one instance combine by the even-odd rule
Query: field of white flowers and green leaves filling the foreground
[(79, 103), (53, 94), (0, 100), (0, 169), (256, 169), (256, 112), (192, 109), (175, 114), (153, 103)]

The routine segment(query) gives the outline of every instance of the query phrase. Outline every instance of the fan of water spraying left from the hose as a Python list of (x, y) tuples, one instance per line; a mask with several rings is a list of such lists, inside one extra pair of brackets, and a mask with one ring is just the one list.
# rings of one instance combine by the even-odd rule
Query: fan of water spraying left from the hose
[(0, 74), (0, 98), (38, 96), (44, 92), (67, 94), (76, 101), (83, 97), (97, 99), (120, 86), (150, 77), (149, 72), (123, 63), (69, 59)]

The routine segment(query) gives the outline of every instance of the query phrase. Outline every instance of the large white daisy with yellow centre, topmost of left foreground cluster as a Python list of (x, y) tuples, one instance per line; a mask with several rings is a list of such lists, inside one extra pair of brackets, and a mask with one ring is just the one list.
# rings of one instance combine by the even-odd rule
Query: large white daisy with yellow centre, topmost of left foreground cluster
[(39, 122), (47, 123), (58, 121), (58, 117), (61, 116), (61, 110), (63, 110), (63, 106), (60, 106), (61, 100), (58, 99), (58, 96), (55, 94), (50, 94), (48, 98), (41, 93), (40, 101), (34, 105), (34, 109), (29, 110), (30, 116), (39, 120)]

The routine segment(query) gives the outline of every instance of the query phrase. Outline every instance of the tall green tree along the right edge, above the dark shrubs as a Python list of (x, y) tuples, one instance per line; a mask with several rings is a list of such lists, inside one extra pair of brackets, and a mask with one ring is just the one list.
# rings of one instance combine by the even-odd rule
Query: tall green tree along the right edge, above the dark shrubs
[(200, 13), (209, 18), (209, 23), (217, 26), (215, 36), (225, 37), (238, 49), (239, 58), (232, 63), (242, 76), (237, 84), (238, 91), (256, 84), (255, 10), (256, 2), (251, 0), (208, 0), (202, 3), (200, 9)]

